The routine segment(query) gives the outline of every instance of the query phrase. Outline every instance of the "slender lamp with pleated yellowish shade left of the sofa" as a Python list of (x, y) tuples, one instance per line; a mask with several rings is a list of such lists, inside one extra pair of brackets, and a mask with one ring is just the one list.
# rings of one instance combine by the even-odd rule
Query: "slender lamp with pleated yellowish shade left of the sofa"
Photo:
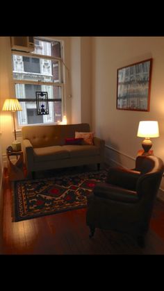
[(3, 103), (2, 110), (13, 112), (15, 141), (12, 143), (12, 147), (13, 147), (13, 151), (21, 151), (21, 142), (17, 141), (16, 130), (15, 130), (15, 111), (22, 111), (22, 107), (17, 99), (6, 99)]

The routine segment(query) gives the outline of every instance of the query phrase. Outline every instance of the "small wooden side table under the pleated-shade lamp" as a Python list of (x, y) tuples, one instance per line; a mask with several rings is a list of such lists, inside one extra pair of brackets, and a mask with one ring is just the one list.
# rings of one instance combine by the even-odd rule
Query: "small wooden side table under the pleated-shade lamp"
[[(16, 156), (17, 160), (14, 163), (10, 157)], [(23, 151), (7, 152), (8, 157), (8, 176), (10, 181), (23, 180), (24, 177), (24, 153)]]

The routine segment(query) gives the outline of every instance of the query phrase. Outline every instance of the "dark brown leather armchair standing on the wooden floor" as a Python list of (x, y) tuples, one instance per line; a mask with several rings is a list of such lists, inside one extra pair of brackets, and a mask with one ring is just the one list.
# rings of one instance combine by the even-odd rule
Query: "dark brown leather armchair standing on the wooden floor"
[(135, 169), (110, 167), (106, 182), (88, 196), (90, 237), (95, 228), (120, 231), (143, 247), (163, 171), (163, 161), (156, 156), (138, 156)]

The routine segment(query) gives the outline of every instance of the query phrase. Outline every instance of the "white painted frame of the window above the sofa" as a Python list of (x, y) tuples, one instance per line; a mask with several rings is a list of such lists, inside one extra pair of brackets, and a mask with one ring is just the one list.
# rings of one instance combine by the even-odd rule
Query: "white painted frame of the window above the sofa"
[[(61, 98), (52, 98), (49, 99), (50, 102), (56, 102), (59, 101), (61, 102), (61, 113), (63, 117), (63, 113), (65, 110), (65, 74), (64, 74), (64, 65), (65, 63), (63, 62), (63, 49), (64, 49), (64, 44), (62, 40), (57, 40), (57, 39), (51, 39), (51, 38), (44, 38), (44, 37), (34, 37), (35, 40), (40, 40), (40, 41), (47, 41), (47, 42), (60, 42), (60, 58), (58, 57), (53, 57), (53, 56), (47, 56), (47, 55), (43, 55), (43, 54), (38, 54), (38, 53), (33, 53), (33, 52), (25, 52), (25, 51), (17, 51), (15, 49), (11, 50), (11, 63), (12, 63), (12, 76), (13, 76), (13, 55), (17, 55), (17, 56), (25, 56), (25, 57), (29, 57), (29, 58), (42, 58), (42, 59), (47, 59), (47, 60), (51, 60), (52, 62), (54, 60), (58, 61), (58, 69), (59, 69), (59, 81), (55, 81), (52, 80), (52, 82), (43, 82), (43, 81), (30, 81), (30, 80), (19, 80), (19, 79), (15, 79), (13, 78), (13, 88), (14, 88), (14, 92), (15, 92), (15, 97), (16, 97), (16, 90), (15, 90), (15, 85), (16, 84), (30, 84), (30, 85), (51, 85), (52, 88), (59, 86), (60, 87), (60, 94), (61, 94)], [(17, 97), (16, 97), (17, 98)], [(20, 102), (35, 102), (35, 99), (32, 98), (17, 98)], [(40, 125), (50, 125), (50, 124), (57, 124), (57, 122), (49, 122), (49, 123), (42, 123)], [(21, 129), (22, 126), (24, 126), (23, 124), (19, 124), (18, 122), (18, 115), (16, 115), (16, 125), (17, 125), (17, 129)], [(28, 126), (35, 126), (38, 124), (26, 124)]]

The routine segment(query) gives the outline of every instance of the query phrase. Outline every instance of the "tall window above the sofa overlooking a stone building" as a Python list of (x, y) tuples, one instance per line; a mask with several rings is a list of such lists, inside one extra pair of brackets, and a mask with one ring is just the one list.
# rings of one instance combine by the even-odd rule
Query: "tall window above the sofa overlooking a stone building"
[[(62, 120), (63, 63), (62, 45), (58, 41), (34, 38), (35, 51), (13, 51), (15, 95), (22, 105), (17, 112), (19, 126), (50, 124)], [(48, 93), (49, 115), (37, 115), (35, 92)]]

